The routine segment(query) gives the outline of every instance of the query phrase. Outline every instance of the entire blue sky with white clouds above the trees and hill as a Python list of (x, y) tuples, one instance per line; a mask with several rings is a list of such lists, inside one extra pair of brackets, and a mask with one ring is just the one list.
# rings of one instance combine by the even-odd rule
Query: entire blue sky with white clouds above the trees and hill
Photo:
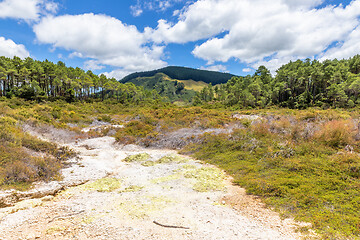
[(360, 53), (360, 0), (0, 0), (0, 56), (121, 79), (168, 65), (247, 75)]

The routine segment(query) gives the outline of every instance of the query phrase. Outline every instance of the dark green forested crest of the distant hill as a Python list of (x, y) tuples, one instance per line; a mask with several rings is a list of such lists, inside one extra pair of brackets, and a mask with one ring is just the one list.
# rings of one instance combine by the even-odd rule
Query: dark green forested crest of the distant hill
[(164, 73), (172, 79), (202, 81), (212, 85), (226, 83), (235, 76), (230, 73), (170, 66), (154, 71), (132, 73), (124, 77), (121, 82), (126, 83), (138, 77), (152, 77), (157, 73)]

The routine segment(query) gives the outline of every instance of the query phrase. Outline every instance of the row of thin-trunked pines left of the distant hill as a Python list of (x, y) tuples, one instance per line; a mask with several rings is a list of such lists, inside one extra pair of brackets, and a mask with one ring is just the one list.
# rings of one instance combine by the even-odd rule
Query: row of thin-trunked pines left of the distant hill
[(78, 67), (67, 67), (59, 61), (37, 61), (30, 57), (0, 57), (0, 96), (17, 96), (28, 100), (64, 99), (66, 101), (117, 99), (121, 103), (137, 103), (158, 99), (133, 83), (122, 84), (104, 74), (96, 75)]

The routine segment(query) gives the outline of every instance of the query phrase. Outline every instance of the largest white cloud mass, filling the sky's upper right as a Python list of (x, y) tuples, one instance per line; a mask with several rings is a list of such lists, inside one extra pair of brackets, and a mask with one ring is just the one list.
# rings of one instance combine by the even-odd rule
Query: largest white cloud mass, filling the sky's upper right
[(277, 68), (284, 61), (322, 54), (342, 41), (324, 56), (356, 54), (360, 0), (346, 7), (318, 7), (323, 2), (199, 0), (179, 13), (178, 22), (161, 19), (156, 29), (145, 32), (157, 43), (204, 41), (192, 53), (208, 64), (236, 59), (251, 67)]

